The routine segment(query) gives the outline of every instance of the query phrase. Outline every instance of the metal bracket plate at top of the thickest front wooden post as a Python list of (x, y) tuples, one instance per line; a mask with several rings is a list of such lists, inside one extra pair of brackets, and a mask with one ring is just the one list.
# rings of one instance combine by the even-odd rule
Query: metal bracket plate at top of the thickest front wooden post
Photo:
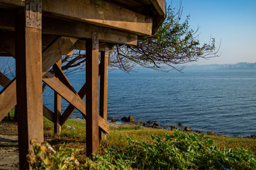
[(26, 0), (26, 27), (42, 29), (42, 0)]

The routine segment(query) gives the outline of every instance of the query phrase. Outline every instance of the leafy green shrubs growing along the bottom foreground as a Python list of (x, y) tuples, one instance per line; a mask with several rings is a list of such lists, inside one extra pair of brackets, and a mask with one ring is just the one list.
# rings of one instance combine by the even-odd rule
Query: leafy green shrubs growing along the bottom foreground
[[(214, 145), (209, 137), (189, 134), (176, 130), (161, 139), (151, 136), (152, 144), (138, 142), (127, 137), (128, 147), (120, 149), (112, 146), (104, 155), (95, 155), (95, 162), (87, 158), (80, 169), (256, 169), (255, 155), (243, 148), (223, 151)], [(77, 149), (60, 149), (60, 154), (48, 154), (41, 145), (33, 145), (36, 167), (63, 167), (76, 169), (77, 161), (73, 152)], [(44, 159), (38, 159), (40, 151)], [(32, 157), (30, 155), (30, 157)], [(33, 156), (34, 157), (34, 156)], [(45, 160), (47, 159), (47, 160)], [(63, 162), (65, 160), (65, 162)], [(31, 161), (30, 161), (31, 162)], [(65, 166), (67, 164), (67, 166)]]

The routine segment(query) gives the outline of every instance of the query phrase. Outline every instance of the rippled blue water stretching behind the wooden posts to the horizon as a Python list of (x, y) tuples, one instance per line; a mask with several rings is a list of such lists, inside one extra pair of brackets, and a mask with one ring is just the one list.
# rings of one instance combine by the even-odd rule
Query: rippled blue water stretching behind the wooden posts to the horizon
[[(77, 91), (85, 82), (85, 74), (68, 78)], [(50, 88), (43, 103), (53, 110)], [(62, 103), (62, 111), (67, 104)], [(120, 120), (128, 115), (165, 128), (182, 123), (218, 135), (255, 135), (256, 71), (109, 72), (108, 116)], [(82, 117), (79, 111), (73, 113), (76, 117)]]

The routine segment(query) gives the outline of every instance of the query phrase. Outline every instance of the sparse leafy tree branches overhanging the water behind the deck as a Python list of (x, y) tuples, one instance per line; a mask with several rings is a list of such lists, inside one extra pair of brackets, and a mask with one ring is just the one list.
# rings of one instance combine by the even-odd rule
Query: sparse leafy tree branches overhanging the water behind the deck
[[(200, 44), (197, 31), (189, 26), (190, 16), (182, 21), (182, 7), (167, 8), (167, 18), (154, 35), (140, 36), (138, 45), (115, 45), (111, 67), (130, 72), (136, 64), (142, 67), (169, 71), (182, 70), (180, 64), (196, 62), (199, 58), (218, 56), (214, 38)], [(63, 57), (63, 70), (84, 69), (85, 52), (77, 50), (73, 56)], [(71, 69), (72, 68), (72, 69)]]

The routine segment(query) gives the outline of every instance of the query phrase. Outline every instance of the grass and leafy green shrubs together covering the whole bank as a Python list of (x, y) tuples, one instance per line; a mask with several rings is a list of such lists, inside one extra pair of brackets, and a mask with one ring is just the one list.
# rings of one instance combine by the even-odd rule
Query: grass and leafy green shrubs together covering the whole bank
[[(67, 120), (61, 134), (53, 135), (53, 124), (45, 119), (45, 139), (59, 152), (45, 154), (48, 156), (37, 161), (40, 168), (47, 167), (43, 162), (50, 162), (49, 167), (60, 164), (63, 169), (76, 169), (80, 162), (80, 169), (256, 169), (253, 154), (256, 140), (239, 137), (205, 136), (140, 126), (111, 127), (94, 162), (85, 157), (85, 124), (82, 122)], [(68, 162), (68, 168), (61, 160)]]

